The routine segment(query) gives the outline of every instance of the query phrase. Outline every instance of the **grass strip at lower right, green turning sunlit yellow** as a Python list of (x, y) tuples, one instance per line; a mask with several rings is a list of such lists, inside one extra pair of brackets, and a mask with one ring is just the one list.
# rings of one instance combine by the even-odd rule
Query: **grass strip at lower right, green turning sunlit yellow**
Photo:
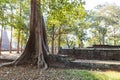
[(58, 70), (57, 73), (51, 77), (56, 78), (56, 80), (120, 80), (120, 73), (115, 71), (101, 72), (67, 69)]

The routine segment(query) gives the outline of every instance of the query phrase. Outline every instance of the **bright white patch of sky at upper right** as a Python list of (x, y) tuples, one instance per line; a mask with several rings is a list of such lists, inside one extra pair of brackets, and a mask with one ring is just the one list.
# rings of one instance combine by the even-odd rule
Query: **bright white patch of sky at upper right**
[(93, 9), (95, 6), (104, 3), (115, 3), (116, 5), (120, 6), (120, 0), (85, 0), (86, 5), (85, 9), (90, 10)]

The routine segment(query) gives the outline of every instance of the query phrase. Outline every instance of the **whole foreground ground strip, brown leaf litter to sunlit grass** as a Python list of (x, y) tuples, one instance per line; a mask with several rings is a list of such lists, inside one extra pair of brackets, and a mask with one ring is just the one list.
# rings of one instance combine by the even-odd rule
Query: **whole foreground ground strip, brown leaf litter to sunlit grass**
[(120, 73), (60, 68), (49, 68), (40, 72), (31, 65), (2, 67), (0, 80), (120, 80)]

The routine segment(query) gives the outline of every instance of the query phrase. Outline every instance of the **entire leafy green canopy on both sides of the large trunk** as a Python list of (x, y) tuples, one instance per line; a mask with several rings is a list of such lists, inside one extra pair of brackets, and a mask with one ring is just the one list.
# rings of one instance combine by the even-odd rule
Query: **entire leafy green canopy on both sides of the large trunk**
[[(86, 11), (83, 0), (41, 0), (42, 13), (47, 26), (48, 42), (51, 44), (52, 27), (55, 26), (55, 47), (59, 36), (61, 46), (67, 43), (83, 45), (120, 44), (120, 8), (115, 4), (98, 5)], [(29, 31), (30, 0), (0, 0), (0, 26)], [(67, 36), (72, 34), (76, 42)], [(73, 45), (71, 45), (73, 46)]]

